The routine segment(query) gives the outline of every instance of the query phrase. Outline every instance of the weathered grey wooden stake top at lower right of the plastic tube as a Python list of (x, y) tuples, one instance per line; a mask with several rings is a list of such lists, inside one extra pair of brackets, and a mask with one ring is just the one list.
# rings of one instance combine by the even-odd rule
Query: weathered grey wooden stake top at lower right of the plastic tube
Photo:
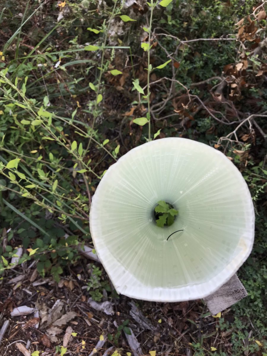
[(231, 307), (247, 296), (247, 291), (236, 274), (216, 292), (203, 298), (212, 315)]

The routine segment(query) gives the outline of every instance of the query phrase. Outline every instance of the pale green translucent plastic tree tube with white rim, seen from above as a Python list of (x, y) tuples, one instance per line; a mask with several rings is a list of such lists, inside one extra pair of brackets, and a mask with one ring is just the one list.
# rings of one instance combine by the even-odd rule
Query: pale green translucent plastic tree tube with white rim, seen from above
[[(179, 210), (169, 227), (155, 223), (159, 200)], [(101, 179), (90, 209), (94, 246), (117, 292), (160, 302), (202, 298), (227, 282), (251, 252), (254, 223), (234, 164), (185, 138), (126, 153)]]

